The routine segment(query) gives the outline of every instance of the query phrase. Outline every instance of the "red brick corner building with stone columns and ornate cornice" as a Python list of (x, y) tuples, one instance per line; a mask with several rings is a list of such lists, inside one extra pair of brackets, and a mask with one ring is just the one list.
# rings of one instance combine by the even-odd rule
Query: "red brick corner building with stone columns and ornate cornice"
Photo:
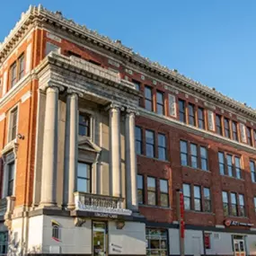
[(0, 81), (0, 253), (256, 254), (255, 110), (41, 5)]

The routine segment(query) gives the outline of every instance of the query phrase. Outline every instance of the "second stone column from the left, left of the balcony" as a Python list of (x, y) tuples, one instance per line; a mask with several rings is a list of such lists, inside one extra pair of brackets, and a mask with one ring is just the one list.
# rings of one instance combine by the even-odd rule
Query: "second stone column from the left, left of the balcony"
[(64, 207), (74, 208), (78, 157), (78, 95), (69, 90), (67, 93), (63, 204)]

